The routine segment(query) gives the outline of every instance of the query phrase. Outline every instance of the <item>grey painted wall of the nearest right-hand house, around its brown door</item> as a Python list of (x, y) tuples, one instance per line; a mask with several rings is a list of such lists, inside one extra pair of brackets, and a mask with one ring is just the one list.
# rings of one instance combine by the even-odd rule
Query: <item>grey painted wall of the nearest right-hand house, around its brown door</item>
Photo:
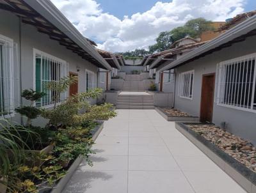
[[(195, 61), (188, 63), (184, 66), (177, 68), (176, 86), (179, 86), (179, 73), (186, 72), (188, 70), (195, 70), (195, 79), (193, 86), (193, 99), (180, 98), (178, 92), (175, 93), (175, 108), (181, 111), (188, 112), (193, 116), (200, 116), (200, 99), (202, 88), (202, 75), (207, 73), (216, 72), (216, 65), (221, 61), (225, 61), (246, 54), (252, 54), (256, 52), (256, 37), (247, 38), (244, 42), (239, 42), (231, 47), (227, 47), (218, 52), (214, 52), (204, 58), (196, 59)], [(216, 89), (214, 98), (216, 98)], [(230, 107), (222, 107), (217, 105), (214, 101), (212, 121), (216, 125), (220, 126), (221, 122), (226, 121), (228, 123), (228, 132), (235, 135), (239, 135), (244, 139), (248, 139), (256, 144), (256, 112), (247, 112)]]

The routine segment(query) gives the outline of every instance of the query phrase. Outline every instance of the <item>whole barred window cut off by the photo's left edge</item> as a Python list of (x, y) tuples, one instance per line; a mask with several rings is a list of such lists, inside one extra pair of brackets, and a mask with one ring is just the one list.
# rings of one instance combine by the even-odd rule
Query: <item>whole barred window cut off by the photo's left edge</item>
[(13, 40), (0, 35), (0, 116), (13, 115), (13, 92)]

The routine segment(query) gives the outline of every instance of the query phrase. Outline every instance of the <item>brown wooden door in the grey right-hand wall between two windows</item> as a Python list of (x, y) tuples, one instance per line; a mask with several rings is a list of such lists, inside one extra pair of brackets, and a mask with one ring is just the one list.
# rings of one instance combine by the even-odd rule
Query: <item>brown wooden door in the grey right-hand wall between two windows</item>
[(214, 102), (215, 73), (203, 75), (200, 121), (211, 122)]

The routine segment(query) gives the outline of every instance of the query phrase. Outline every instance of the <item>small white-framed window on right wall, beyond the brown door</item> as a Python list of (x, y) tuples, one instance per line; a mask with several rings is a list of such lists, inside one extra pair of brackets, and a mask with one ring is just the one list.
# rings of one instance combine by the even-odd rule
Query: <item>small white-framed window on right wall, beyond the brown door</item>
[(193, 97), (194, 70), (180, 73), (179, 96), (192, 99)]

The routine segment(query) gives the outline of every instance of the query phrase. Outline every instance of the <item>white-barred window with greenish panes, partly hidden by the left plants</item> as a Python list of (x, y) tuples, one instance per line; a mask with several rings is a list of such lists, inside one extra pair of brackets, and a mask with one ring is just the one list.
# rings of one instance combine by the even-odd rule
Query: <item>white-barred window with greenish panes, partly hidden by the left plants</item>
[[(60, 81), (62, 77), (67, 76), (68, 65), (65, 61), (54, 56), (34, 49), (35, 56), (35, 89), (44, 92), (46, 95), (36, 102), (36, 106), (45, 107), (54, 104), (55, 93), (45, 88), (46, 82)], [(67, 98), (67, 92), (61, 93), (60, 101)]]

